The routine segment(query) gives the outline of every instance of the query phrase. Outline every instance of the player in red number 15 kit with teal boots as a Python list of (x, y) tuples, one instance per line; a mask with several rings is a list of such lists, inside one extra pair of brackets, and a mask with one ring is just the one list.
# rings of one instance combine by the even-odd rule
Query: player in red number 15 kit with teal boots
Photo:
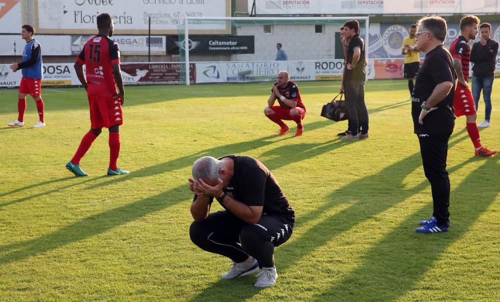
[[(74, 63), (76, 75), (87, 91), (90, 106), (90, 131), (83, 136), (73, 158), (66, 164), (66, 169), (76, 176), (88, 176), (80, 168), (80, 159), (99, 136), (102, 127), (109, 130), (107, 175), (129, 173), (117, 167), (120, 153), (119, 125), (123, 123), (121, 105), (124, 100), (124, 90), (119, 47), (109, 39), (113, 35), (114, 25), (108, 13), (97, 16), (97, 28), (99, 33), (85, 43)], [(83, 76), (83, 64), (86, 67), (86, 78)]]

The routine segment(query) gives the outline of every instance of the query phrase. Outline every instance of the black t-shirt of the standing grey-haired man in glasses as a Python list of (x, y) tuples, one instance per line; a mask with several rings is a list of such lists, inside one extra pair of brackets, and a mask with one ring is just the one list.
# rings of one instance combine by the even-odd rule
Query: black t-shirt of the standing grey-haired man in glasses
[[(454, 127), (455, 115), (453, 109), (453, 94), (455, 91), (456, 73), (453, 59), (444, 46), (439, 45), (427, 53), (418, 74), (412, 93), (411, 117), (416, 134), (451, 133)], [(423, 119), (423, 125), (418, 123), (422, 102), (426, 101), (434, 88), (443, 82), (452, 82), (453, 87), (448, 95), (439, 102), (436, 110), (429, 112)]]

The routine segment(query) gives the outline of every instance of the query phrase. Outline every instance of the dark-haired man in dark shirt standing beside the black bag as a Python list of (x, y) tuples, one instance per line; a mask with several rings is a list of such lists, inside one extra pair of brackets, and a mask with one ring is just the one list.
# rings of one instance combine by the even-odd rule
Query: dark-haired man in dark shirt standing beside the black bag
[[(343, 24), (343, 38), (349, 40), (343, 73), (345, 104), (349, 112), (348, 132), (344, 140), (368, 138), (368, 110), (364, 103), (364, 80), (366, 78), (364, 41), (359, 37), (359, 22), (349, 20)], [(359, 114), (359, 117), (358, 117)], [(358, 127), (361, 126), (361, 133)]]

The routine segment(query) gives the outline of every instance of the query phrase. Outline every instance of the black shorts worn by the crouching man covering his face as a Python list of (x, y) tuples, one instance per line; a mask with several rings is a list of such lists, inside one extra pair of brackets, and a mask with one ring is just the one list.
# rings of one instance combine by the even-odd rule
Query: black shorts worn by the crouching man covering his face
[(264, 240), (275, 247), (285, 243), (293, 232), (294, 221), (286, 217), (262, 215), (257, 224), (249, 225), (227, 211), (211, 213), (201, 222), (205, 229), (215, 232), (219, 237), (239, 243), (239, 233), (243, 227), (252, 228)]

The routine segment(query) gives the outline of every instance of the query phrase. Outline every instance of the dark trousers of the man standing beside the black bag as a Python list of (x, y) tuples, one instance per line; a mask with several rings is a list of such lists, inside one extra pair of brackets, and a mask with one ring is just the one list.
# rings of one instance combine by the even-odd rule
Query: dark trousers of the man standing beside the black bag
[(368, 110), (364, 103), (364, 81), (349, 80), (345, 83), (345, 105), (349, 112), (349, 131), (357, 135), (359, 126), (361, 133), (368, 133)]

